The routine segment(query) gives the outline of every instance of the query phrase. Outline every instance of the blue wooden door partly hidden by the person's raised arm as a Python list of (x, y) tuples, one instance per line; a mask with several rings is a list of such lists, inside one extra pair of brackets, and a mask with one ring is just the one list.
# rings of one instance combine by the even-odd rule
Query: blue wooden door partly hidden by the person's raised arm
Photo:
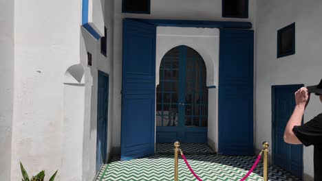
[[(283, 134), (295, 106), (294, 93), (303, 86), (272, 86), (272, 160), (273, 164), (302, 178), (303, 145), (290, 145)], [(303, 123), (303, 120), (302, 120)]]

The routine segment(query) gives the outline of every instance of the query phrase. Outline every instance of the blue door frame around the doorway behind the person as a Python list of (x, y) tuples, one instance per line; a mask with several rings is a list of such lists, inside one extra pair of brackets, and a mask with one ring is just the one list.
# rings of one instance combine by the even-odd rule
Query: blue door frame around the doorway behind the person
[[(271, 106), (272, 106), (272, 124), (271, 124), (271, 138), (272, 138), (272, 164), (274, 165), (275, 164), (275, 124), (276, 124), (276, 120), (275, 120), (275, 95), (276, 95), (276, 89), (277, 88), (301, 88), (303, 87), (304, 84), (290, 84), (290, 85), (273, 85), (272, 88), (271, 88)], [(304, 120), (304, 114), (303, 114), (303, 118), (302, 118), (302, 121), (301, 121), (301, 124), (303, 124), (303, 120)], [(301, 160), (301, 165), (302, 165), (302, 173), (303, 173), (303, 147), (301, 149), (301, 156), (302, 156), (302, 159)]]

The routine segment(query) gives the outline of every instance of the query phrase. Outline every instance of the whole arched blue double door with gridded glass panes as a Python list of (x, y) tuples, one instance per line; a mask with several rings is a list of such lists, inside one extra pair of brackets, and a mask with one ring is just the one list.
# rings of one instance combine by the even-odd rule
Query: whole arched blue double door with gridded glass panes
[(157, 143), (206, 143), (206, 66), (194, 49), (182, 45), (162, 58), (155, 114)]

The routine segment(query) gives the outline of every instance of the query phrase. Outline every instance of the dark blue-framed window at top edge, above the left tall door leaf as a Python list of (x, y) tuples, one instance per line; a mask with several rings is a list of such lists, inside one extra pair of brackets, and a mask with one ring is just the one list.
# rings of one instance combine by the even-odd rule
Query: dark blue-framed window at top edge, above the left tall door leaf
[(122, 0), (122, 12), (150, 14), (151, 0)]

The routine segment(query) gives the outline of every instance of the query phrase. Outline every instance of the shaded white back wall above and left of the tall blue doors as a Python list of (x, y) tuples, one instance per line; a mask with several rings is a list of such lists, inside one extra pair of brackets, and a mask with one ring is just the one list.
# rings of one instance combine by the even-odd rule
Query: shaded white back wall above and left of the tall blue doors
[[(113, 147), (120, 152), (121, 94), (122, 87), (122, 19), (184, 19), (211, 21), (250, 21), (255, 18), (255, 0), (249, 1), (249, 19), (222, 18), (222, 0), (151, 0), (151, 14), (122, 14), (122, 1), (114, 3), (114, 100)], [(117, 149), (118, 148), (118, 149)]]

